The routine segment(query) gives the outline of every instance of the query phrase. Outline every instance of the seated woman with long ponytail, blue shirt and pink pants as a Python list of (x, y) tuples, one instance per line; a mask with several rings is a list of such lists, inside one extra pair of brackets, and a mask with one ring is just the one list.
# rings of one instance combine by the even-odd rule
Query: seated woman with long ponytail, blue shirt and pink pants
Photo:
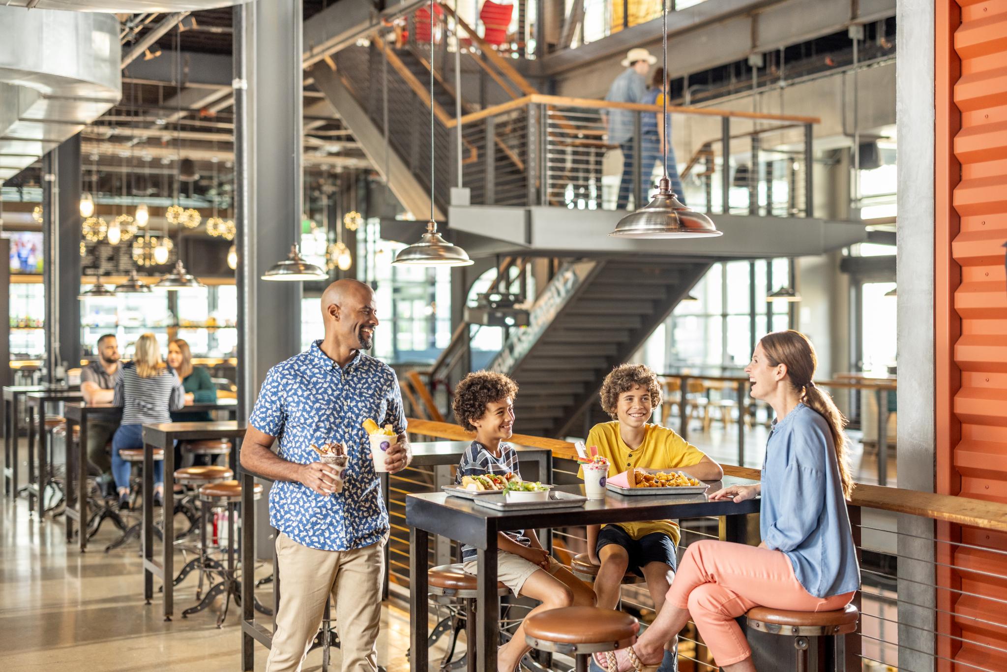
[(745, 368), (751, 396), (776, 414), (761, 482), (731, 486), (711, 500), (743, 502), (761, 495), (758, 547), (726, 541), (691, 544), (664, 608), (629, 649), (596, 662), (608, 672), (661, 662), (665, 643), (690, 616), (717, 665), (754, 672), (751, 649), (734, 621), (754, 607), (794, 612), (843, 609), (860, 587), (860, 568), (846, 498), (853, 482), (845, 463), (843, 414), (812, 377), (815, 348), (799, 331), (766, 334)]

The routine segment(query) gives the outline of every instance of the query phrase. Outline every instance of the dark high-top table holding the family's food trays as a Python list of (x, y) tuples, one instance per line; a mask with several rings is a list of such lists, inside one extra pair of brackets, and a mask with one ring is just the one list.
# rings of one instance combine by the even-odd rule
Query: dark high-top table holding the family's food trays
[[(710, 486), (714, 492), (722, 486), (749, 485), (747, 479), (724, 477), (723, 483)], [(557, 490), (583, 494), (583, 486), (561, 486)], [(479, 604), (496, 603), (497, 532), (528, 528), (575, 527), (624, 523), (666, 518), (701, 518), (724, 516), (728, 541), (747, 541), (747, 514), (758, 513), (758, 500), (735, 504), (732, 501), (710, 502), (704, 495), (626, 497), (609, 494), (604, 501), (588, 501), (577, 509), (531, 509), (494, 511), (471, 500), (449, 497), (443, 493), (406, 497), (406, 524), (409, 525), (410, 589), (410, 666), (413, 672), (429, 672), (427, 561), (431, 534), (475, 546), (478, 553)], [(476, 612), (475, 651), (478, 672), (495, 672), (499, 610)], [(766, 668), (769, 669), (769, 668)]]

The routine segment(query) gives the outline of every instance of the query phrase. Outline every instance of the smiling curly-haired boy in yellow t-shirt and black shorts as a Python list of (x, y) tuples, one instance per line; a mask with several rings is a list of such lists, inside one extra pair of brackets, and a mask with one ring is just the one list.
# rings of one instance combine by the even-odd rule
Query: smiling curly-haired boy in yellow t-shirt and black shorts
[[(675, 468), (701, 481), (719, 481), (723, 469), (702, 450), (674, 430), (648, 422), (660, 405), (661, 384), (648, 367), (622, 364), (605, 377), (601, 408), (612, 420), (594, 425), (587, 445), (597, 446), (598, 454), (608, 459), (608, 476), (632, 467)], [(583, 477), (583, 471), (579, 476)], [(622, 576), (628, 570), (646, 580), (655, 611), (660, 612), (675, 575), (675, 547), (680, 537), (679, 526), (671, 520), (589, 525), (588, 556), (601, 565), (594, 580), (598, 607), (615, 608)], [(677, 667), (673, 641), (666, 647), (659, 672), (672, 672)]]

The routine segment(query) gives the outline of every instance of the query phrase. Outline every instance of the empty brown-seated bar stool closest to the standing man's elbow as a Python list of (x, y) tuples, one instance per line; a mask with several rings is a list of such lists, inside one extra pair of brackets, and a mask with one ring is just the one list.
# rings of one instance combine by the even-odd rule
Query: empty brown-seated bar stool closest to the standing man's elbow
[[(205, 467), (203, 467), (205, 468)], [(252, 499), (259, 500), (262, 498), (262, 486), (255, 484), (255, 489), (252, 491)], [(209, 607), (213, 599), (221, 593), (224, 594), (224, 610), (221, 615), (217, 617), (217, 627), (220, 628), (224, 625), (224, 620), (228, 618), (228, 607), (231, 604), (231, 597), (234, 596), (235, 602), (240, 604), (242, 598), (242, 581), (237, 578), (237, 567), (235, 562), (235, 551), (237, 550), (237, 545), (239, 539), (235, 535), (235, 520), (236, 509), (242, 503), (242, 484), (240, 481), (221, 481), (220, 483), (210, 483), (199, 488), (199, 505), (201, 509), (202, 522), (201, 527), (203, 529), (203, 535), (205, 535), (206, 529), (206, 514), (212, 509), (227, 508), (228, 511), (228, 566), (223, 569), (207, 569), (207, 574), (212, 574), (217, 572), (221, 575), (221, 580), (206, 590), (206, 594), (203, 596), (202, 600), (195, 607), (190, 607), (189, 609), (182, 612), (182, 618), (187, 619), (192, 614), (201, 612), (202, 610)], [(205, 537), (203, 537), (204, 539)], [(220, 539), (220, 537), (218, 537)], [(205, 547), (205, 544), (204, 544)], [(245, 580), (254, 581), (255, 567), (243, 567), (242, 573), (247, 575), (243, 576)], [(253, 607), (260, 614), (265, 614), (267, 616), (273, 615), (273, 610), (266, 609), (262, 606), (258, 598), (255, 598)]]

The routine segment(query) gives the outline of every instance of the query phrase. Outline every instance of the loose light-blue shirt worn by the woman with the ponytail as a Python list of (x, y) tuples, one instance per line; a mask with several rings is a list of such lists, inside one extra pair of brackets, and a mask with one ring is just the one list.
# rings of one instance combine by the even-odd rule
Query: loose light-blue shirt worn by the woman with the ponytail
[(825, 418), (804, 404), (769, 433), (760, 513), (762, 541), (786, 554), (808, 592), (829, 597), (860, 587), (832, 433)]

